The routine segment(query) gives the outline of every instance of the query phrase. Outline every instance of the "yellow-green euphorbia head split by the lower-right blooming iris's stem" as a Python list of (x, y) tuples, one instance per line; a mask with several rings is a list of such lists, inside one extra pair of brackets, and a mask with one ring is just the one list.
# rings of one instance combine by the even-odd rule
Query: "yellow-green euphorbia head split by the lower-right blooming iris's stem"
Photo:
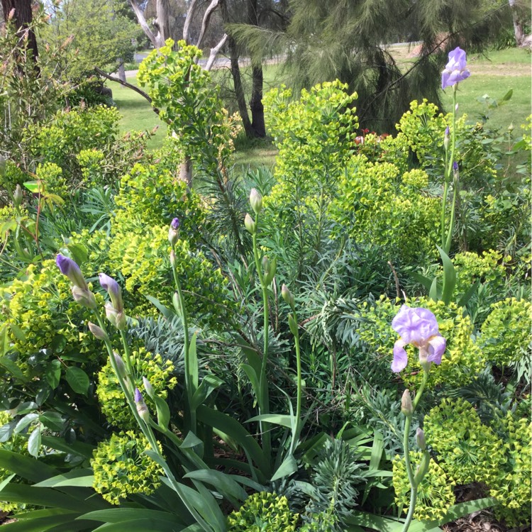
[[(423, 453), (411, 451), (410, 462), (414, 471), (420, 464), (422, 456)], [(392, 464), (395, 504), (406, 513), (409, 508), (411, 489), (406, 474), (406, 462), (403, 456), (397, 455)], [(455, 482), (445, 474), (445, 471), (434, 460), (431, 460), (428, 472), (419, 484), (414, 518), (434, 521), (445, 516), (450, 506), (455, 504), (454, 485)]]

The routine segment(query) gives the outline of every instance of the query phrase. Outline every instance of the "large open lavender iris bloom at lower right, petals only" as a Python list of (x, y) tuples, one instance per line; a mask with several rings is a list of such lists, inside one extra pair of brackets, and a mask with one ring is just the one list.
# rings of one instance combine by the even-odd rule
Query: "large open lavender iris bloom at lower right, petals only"
[(431, 311), (411, 309), (408, 305), (403, 305), (392, 320), (392, 328), (401, 336), (394, 345), (393, 372), (400, 372), (408, 365), (408, 356), (404, 350), (407, 344), (419, 349), (419, 362), (422, 365), (429, 362), (441, 363), (446, 342), (438, 332), (438, 321)]

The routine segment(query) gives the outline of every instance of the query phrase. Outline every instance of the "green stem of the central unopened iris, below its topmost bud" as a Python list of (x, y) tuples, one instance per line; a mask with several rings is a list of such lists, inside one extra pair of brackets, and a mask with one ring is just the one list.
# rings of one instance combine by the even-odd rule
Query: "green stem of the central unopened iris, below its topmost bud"
[[(259, 215), (255, 214), (255, 226), (258, 226)], [(268, 287), (266, 286), (265, 276), (262, 274), (262, 268), (260, 265), (259, 250), (257, 244), (257, 231), (253, 233), (253, 257), (255, 258), (255, 267), (257, 269), (257, 275), (259, 277), (260, 287), (262, 288), (262, 318), (263, 318), (263, 348), (262, 348), (262, 362), (260, 365), (260, 377), (259, 377), (259, 389), (260, 396), (257, 397), (257, 403), (259, 406), (259, 414), (270, 414), (270, 397), (268, 392), (268, 382), (266, 379), (266, 368), (268, 360), (268, 329), (270, 325), (270, 307), (268, 304)], [(264, 450), (267, 456), (272, 453), (272, 440), (270, 436), (270, 429), (267, 428), (268, 424), (260, 421), (260, 433), (262, 434), (262, 450)]]

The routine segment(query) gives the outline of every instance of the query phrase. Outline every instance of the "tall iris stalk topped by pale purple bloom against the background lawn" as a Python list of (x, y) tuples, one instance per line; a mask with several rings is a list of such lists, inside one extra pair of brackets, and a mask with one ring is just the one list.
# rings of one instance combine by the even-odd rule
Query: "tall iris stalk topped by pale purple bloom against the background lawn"
[(458, 90), (458, 83), (470, 77), (470, 72), (467, 70), (467, 63), (465, 57), (465, 51), (461, 48), (455, 48), (452, 52), (449, 52), (449, 62), (445, 65), (441, 75), (441, 88), (453, 87), (453, 129), (450, 131), (450, 154), (448, 151), (448, 135), (449, 128), (445, 130), (445, 177), (443, 184), (443, 196), (441, 205), (441, 248), (445, 253), (449, 253), (451, 239), (453, 238), (453, 228), (455, 225), (455, 206), (456, 198), (458, 195), (458, 179), (455, 179), (453, 186), (453, 202), (451, 204), (449, 227), (445, 226), (445, 215), (447, 211), (447, 196), (449, 192), (449, 185), (451, 176), (453, 176), (453, 168), (455, 165), (455, 148), (456, 148), (456, 111), (458, 105), (456, 103), (456, 92)]

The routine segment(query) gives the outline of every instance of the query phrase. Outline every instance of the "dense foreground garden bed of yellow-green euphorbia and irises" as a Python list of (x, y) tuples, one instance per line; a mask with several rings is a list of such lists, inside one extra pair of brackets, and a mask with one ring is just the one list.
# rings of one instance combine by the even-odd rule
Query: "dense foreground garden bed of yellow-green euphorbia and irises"
[(428, 101), (361, 138), (344, 84), (275, 89), (275, 170), (241, 176), (198, 57), (143, 64), (161, 150), (52, 106), (1, 160), (6, 531), (525, 525), (529, 131), (503, 166)]

